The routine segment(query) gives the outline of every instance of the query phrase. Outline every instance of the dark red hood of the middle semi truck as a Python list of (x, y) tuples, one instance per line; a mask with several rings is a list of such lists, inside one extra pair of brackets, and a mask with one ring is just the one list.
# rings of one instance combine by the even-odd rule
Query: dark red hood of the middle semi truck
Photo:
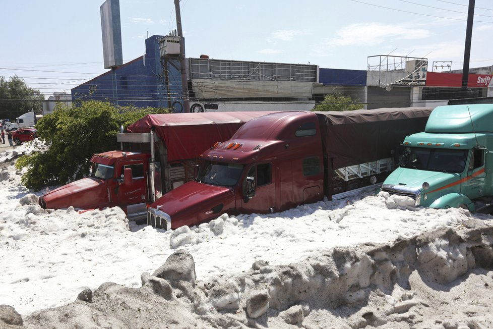
[(171, 229), (194, 226), (236, 208), (234, 190), (228, 187), (185, 183), (160, 197), (151, 208), (164, 211), (171, 217)]

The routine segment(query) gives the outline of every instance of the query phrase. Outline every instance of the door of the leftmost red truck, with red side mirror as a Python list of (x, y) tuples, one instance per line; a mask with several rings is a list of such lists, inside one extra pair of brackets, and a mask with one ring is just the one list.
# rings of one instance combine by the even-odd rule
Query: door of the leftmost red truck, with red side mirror
[[(124, 171), (126, 168), (132, 170), (132, 180), (130, 184), (124, 183)], [(116, 168), (120, 178), (118, 178), (118, 204), (129, 205), (146, 202), (147, 200), (147, 180), (144, 170), (144, 162), (121, 161)]]

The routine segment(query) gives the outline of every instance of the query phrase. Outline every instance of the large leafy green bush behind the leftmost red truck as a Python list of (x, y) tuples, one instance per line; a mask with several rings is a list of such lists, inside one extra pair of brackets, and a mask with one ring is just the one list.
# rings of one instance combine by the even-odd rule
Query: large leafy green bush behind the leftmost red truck
[(35, 190), (66, 184), (89, 174), (94, 153), (118, 149), (116, 134), (147, 114), (166, 113), (165, 108), (114, 107), (108, 102), (84, 101), (81, 106), (57, 106), (36, 124), (46, 141), (46, 151), (21, 156), (17, 168), (27, 167), (22, 183)]

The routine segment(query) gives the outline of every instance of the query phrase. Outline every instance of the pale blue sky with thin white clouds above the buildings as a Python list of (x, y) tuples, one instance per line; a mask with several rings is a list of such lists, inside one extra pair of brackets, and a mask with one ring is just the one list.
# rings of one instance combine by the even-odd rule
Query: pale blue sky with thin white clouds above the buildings
[[(0, 2), (0, 76), (17, 75), (46, 96), (103, 68), (104, 0)], [(181, 0), (186, 57), (315, 64), (365, 70), (391, 53), (452, 61), (462, 69), (468, 0)], [(476, 0), (470, 68), (493, 65), (493, 2)], [(120, 0), (124, 63), (144, 40), (176, 28), (173, 0)], [(440, 71), (440, 70), (439, 70)]]

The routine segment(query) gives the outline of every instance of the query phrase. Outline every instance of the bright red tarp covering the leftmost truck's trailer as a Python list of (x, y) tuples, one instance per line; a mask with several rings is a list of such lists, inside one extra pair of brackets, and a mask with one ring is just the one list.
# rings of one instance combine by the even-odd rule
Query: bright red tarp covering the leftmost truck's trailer
[(129, 133), (151, 129), (164, 141), (169, 162), (198, 158), (215, 142), (224, 142), (245, 122), (272, 112), (150, 114), (130, 125)]

